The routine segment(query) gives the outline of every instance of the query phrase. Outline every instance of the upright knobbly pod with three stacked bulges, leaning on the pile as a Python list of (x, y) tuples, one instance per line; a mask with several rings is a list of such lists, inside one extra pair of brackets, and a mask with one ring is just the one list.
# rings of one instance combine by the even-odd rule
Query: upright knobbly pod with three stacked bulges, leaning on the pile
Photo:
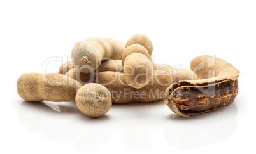
[(140, 89), (145, 87), (152, 77), (153, 44), (142, 34), (131, 37), (125, 45), (122, 55), (124, 65), (125, 82), (129, 86)]

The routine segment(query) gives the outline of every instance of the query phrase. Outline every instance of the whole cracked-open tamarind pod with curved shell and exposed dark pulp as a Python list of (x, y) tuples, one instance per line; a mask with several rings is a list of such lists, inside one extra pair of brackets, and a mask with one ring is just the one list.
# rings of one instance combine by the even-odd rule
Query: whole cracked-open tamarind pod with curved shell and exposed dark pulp
[(190, 63), (201, 80), (185, 80), (166, 89), (165, 103), (178, 115), (189, 117), (230, 105), (238, 95), (239, 70), (214, 56), (197, 56)]

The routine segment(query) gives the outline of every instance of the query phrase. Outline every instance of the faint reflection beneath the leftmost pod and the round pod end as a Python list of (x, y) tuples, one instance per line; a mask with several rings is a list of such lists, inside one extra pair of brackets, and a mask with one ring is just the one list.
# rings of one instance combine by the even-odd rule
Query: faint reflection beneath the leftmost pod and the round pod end
[(43, 102), (22, 102), (18, 110), (20, 122), (30, 131), (53, 141), (74, 140), (77, 150), (97, 151), (110, 139), (107, 115), (91, 119), (83, 115), (74, 102), (47, 104), (51, 106)]

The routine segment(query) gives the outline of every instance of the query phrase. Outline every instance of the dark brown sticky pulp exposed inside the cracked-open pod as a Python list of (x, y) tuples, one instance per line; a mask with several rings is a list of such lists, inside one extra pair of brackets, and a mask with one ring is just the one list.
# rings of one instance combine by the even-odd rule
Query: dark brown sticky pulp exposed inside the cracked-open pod
[(238, 80), (221, 80), (211, 84), (180, 86), (170, 95), (181, 113), (197, 115), (212, 112), (234, 101)]

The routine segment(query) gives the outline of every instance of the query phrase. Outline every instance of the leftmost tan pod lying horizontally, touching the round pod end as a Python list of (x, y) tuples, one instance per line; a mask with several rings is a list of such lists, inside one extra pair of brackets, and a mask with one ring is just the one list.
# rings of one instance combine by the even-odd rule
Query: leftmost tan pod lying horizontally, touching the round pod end
[(82, 84), (62, 74), (23, 74), (17, 81), (17, 91), (26, 101), (75, 101)]

